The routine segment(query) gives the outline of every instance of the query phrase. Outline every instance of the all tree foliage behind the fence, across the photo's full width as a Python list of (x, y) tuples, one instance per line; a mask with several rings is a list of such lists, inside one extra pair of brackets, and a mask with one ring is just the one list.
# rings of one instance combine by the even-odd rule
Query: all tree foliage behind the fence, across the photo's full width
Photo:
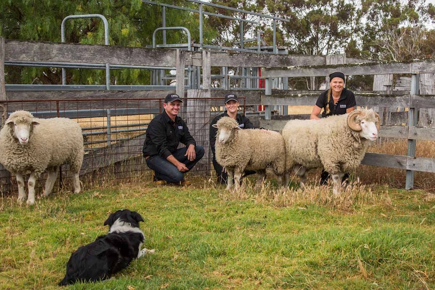
[[(156, 1), (156, 0), (155, 0)], [(160, 3), (199, 9), (197, 3), (160, 0)], [(273, 21), (247, 14), (267, 14), (289, 19), (277, 21), (277, 45), (290, 53), (324, 55), (346, 53), (387, 61), (408, 61), (432, 57), (435, 32), (425, 26), (433, 23), (435, 7), (424, 0), (211, 0), (218, 7), (203, 5), (205, 12), (258, 22), (243, 23), (204, 15), (203, 43), (235, 46), (240, 38), (255, 38), (265, 32), (267, 45), (273, 42)], [(225, 7), (236, 8), (238, 11)], [(61, 23), (68, 15), (101, 14), (109, 25), (110, 45), (145, 47), (152, 44), (153, 31), (162, 26), (162, 7), (141, 0), (3, 0), (0, 1), (0, 35), (8, 39), (61, 41)], [(199, 17), (192, 11), (166, 8), (166, 26), (184, 26), (199, 42)], [(156, 34), (161, 44), (163, 33)], [(185, 43), (182, 31), (167, 31), (167, 43)], [(104, 26), (99, 18), (70, 19), (66, 41), (104, 43)], [(245, 45), (255, 46), (246, 43)], [(146, 64), (143, 64), (146, 65)], [(8, 83), (60, 84), (60, 68), (7, 67)], [(149, 71), (111, 70), (112, 84), (148, 84)], [(69, 69), (68, 84), (104, 84), (104, 70)]]

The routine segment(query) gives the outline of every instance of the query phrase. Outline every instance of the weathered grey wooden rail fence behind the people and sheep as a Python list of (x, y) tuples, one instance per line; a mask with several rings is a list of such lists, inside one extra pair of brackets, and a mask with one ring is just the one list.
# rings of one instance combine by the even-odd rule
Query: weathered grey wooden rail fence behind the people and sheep
[[(435, 172), (433, 158), (415, 157), (417, 140), (435, 140), (434, 128), (417, 127), (418, 111), (421, 108), (435, 108), (434, 95), (419, 95), (419, 75), (434, 74), (435, 62), (418, 61), (411, 63), (362, 63), (361, 60), (345, 59), (338, 64), (336, 56), (307, 55), (271, 55), (250, 53), (224, 53), (210, 51), (186, 51), (181, 49), (150, 49), (140, 47), (119, 47), (106, 45), (83, 45), (70, 43), (52, 43), (35, 41), (5, 40), (0, 38), (0, 104), (2, 100), (50, 100), (50, 99), (88, 99), (88, 98), (156, 98), (164, 97), (168, 90), (125, 90), (125, 91), (6, 91), (4, 80), (5, 61), (12, 62), (66, 62), (90, 64), (116, 64), (135, 66), (176, 67), (177, 86), (175, 92), (180, 96), (198, 96), (206, 101), (210, 97), (222, 97), (228, 91), (209, 90), (211, 84), (211, 67), (261, 67), (262, 76), (266, 78), (265, 90), (243, 90), (247, 106), (265, 105), (265, 117), (261, 126), (280, 130), (285, 120), (273, 120), (271, 112), (276, 105), (313, 105), (318, 91), (275, 90), (274, 80), (289, 77), (324, 77), (334, 71), (345, 75), (411, 75), (409, 93), (370, 91), (355, 92), (360, 106), (407, 107), (406, 126), (382, 126), (381, 137), (404, 138), (408, 140), (406, 156), (367, 153), (364, 164), (386, 166), (407, 170), (406, 188), (413, 187), (415, 170)], [(185, 92), (185, 67), (202, 67), (202, 88), (204, 92)], [(206, 105), (206, 104), (204, 104)], [(195, 110), (188, 109), (190, 117)], [(5, 116), (3, 116), (4, 118)], [(198, 130), (208, 130), (202, 126)], [(207, 140), (204, 140), (206, 142)]]

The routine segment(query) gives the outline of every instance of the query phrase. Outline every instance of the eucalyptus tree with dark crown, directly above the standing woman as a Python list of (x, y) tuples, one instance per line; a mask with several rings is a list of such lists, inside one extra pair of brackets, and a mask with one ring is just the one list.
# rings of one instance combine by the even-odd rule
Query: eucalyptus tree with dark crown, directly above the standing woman
[(265, 1), (271, 14), (290, 19), (282, 23), (282, 29), (295, 53), (343, 53), (360, 30), (360, 16), (353, 0)]

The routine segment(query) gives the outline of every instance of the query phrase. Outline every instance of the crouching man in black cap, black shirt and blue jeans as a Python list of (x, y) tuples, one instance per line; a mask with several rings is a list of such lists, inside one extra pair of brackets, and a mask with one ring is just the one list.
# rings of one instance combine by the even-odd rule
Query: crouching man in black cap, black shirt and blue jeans
[[(163, 103), (165, 111), (152, 119), (146, 130), (142, 152), (146, 164), (154, 170), (156, 184), (187, 184), (184, 173), (204, 155), (204, 147), (196, 145), (186, 123), (177, 116), (181, 103), (179, 95), (168, 94)], [(180, 142), (186, 147), (177, 149)]]

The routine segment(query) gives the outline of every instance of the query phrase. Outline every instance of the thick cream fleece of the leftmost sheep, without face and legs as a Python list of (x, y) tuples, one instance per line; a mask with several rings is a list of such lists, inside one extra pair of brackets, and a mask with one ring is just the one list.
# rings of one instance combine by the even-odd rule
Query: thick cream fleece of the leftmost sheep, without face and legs
[(78, 173), (82, 166), (84, 147), (79, 124), (67, 118), (37, 119), (28, 111), (15, 111), (8, 120), (40, 125), (31, 126), (29, 142), (20, 145), (14, 135), (14, 124), (5, 125), (0, 131), (0, 163), (12, 173), (35, 171), (38, 178), (48, 167), (65, 162), (70, 170)]

